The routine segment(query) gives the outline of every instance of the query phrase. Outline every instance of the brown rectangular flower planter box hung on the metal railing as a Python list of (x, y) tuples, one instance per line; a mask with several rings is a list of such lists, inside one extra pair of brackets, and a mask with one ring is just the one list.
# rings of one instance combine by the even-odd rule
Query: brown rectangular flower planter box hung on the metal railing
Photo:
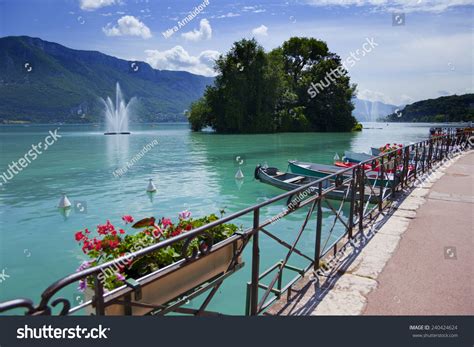
[[(230, 239), (214, 245), (208, 254), (194, 261), (180, 260), (137, 279), (141, 285), (142, 294), (138, 301), (135, 300), (133, 292), (127, 292), (127, 290), (130, 290), (129, 288), (121, 287), (112, 291), (111, 295), (105, 298), (105, 315), (122, 316), (127, 314), (127, 307), (122, 304), (114, 304), (114, 300), (124, 301), (126, 297), (131, 297), (132, 302), (156, 306), (163, 305), (224, 273), (228, 269), (236, 249), (242, 245), (242, 240), (237, 239), (229, 242)], [(242, 259), (239, 256), (237, 264), (241, 263)], [(93, 290), (87, 288), (86, 300), (92, 299), (93, 295)], [(132, 315), (145, 315), (152, 310), (148, 307), (131, 306)], [(128, 312), (130, 312), (130, 308), (128, 308)], [(88, 306), (87, 313), (95, 314), (95, 308)]]

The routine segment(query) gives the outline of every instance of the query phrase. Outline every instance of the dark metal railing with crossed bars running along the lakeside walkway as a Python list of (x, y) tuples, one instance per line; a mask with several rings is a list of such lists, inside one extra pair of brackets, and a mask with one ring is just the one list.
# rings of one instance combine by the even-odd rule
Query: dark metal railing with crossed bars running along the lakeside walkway
[[(336, 254), (338, 249), (340, 249), (338, 246), (340, 246), (341, 242), (352, 239), (358, 232), (361, 232), (364, 227), (370, 224), (378, 214), (382, 213), (382, 211), (391, 204), (397, 191), (407, 187), (410, 182), (419, 179), (420, 175), (426, 173), (436, 162), (443, 160), (450, 153), (464, 150), (468, 144), (469, 136), (470, 133), (449, 131), (443, 136), (410, 144), (389, 153), (382, 153), (381, 155), (375, 156), (353, 167), (342, 168), (336, 173), (317, 179), (293, 191), (285, 192), (258, 205), (224, 216), (210, 224), (180, 234), (176, 237), (166, 239), (127, 256), (114, 259), (108, 263), (66, 276), (50, 285), (42, 293), (41, 301), (37, 306), (35, 306), (33, 301), (30, 299), (16, 299), (0, 303), (0, 313), (22, 308), (26, 310), (25, 314), (27, 315), (51, 315), (54, 313), (53, 309), (61, 304), (61, 309), (56, 309), (59, 311), (58, 313), (60, 315), (73, 314), (87, 307), (92, 307), (96, 315), (104, 315), (107, 306), (112, 304), (122, 304), (129, 306), (146, 306), (150, 309), (153, 308), (153, 314), (166, 314), (172, 311), (194, 315), (209, 314), (211, 312), (206, 311), (208, 304), (225, 279), (241, 266), (237, 262), (237, 259), (241, 256), (244, 248), (250, 241), (252, 241), (251, 279), (250, 282), (247, 283), (246, 314), (258, 315), (265, 311), (275, 300), (280, 298), (282, 294), (291, 291), (293, 284), (304, 276), (305, 272), (310, 269), (318, 269), (321, 260), (328, 256), (331, 251), (333, 254)], [(369, 167), (370, 170), (367, 170), (367, 167)], [(374, 173), (376, 176), (374, 176)], [(329, 186), (326, 184), (323, 185), (323, 182), (325, 181), (329, 181), (331, 184)], [(323, 187), (327, 188), (323, 189)], [(344, 191), (344, 196), (339, 201), (331, 200), (327, 197), (328, 193), (336, 189)], [(277, 220), (285, 218), (306, 206), (308, 207), (306, 216), (294, 241), (288, 243), (268, 230), (268, 227), (271, 224), (276, 223), (276, 220), (273, 218), (262, 221), (260, 218), (260, 212), (264, 207), (272, 204), (285, 202), (288, 205), (289, 201), (294, 201), (293, 199), (295, 197), (301, 196), (305, 191), (310, 191), (311, 194), (307, 195), (296, 204), (289, 204), (289, 207), (283, 213), (278, 215)], [(339, 206), (336, 206), (337, 202), (339, 202)], [(325, 240), (323, 239), (322, 223), (323, 204), (332, 212), (334, 217), (331, 228), (326, 230), (327, 237)], [(349, 210), (349, 213), (345, 218), (342, 213), (344, 207)], [(316, 217), (316, 230), (314, 231), (315, 249), (313, 255), (308, 255), (298, 248), (298, 243), (308, 225), (308, 222), (314, 215)], [(130, 257), (133, 257), (133, 259), (139, 259), (156, 252), (157, 250), (182, 241), (184, 241), (185, 244), (189, 244), (190, 240), (203, 235), (211, 228), (235, 221), (243, 216), (252, 216), (252, 227), (238, 232), (216, 245), (216, 248), (231, 243), (235, 246), (232, 262), (227, 270), (220, 276), (197, 286), (192, 291), (181, 293), (181, 295), (165, 305), (158, 306), (140, 304), (137, 302), (140, 286), (146, 284), (147, 281), (150, 281), (149, 278), (140, 278), (137, 279), (137, 281), (134, 281), (133, 284), (126, 283), (122, 287), (116, 288), (112, 291), (104, 291), (103, 284), (99, 280), (99, 274), (106, 271), (108, 268), (111, 268), (117, 262), (125, 261)], [(336, 238), (335, 241), (328, 245), (329, 237), (338, 222), (339, 225), (343, 226), (344, 232)], [(287, 249), (287, 253), (283, 260), (278, 261), (276, 264), (261, 273), (260, 237), (264, 235)], [(303, 268), (297, 268), (288, 264), (288, 260), (293, 254), (306, 259), (306, 261), (309, 262), (308, 265)], [(170, 271), (186, 266), (189, 262), (196, 261), (205, 256), (206, 254), (201, 252), (197, 254), (194, 259), (186, 257), (186, 259), (182, 259), (170, 267), (160, 269), (157, 275), (166, 275), (166, 273), (169, 273)], [(283, 284), (283, 274), (285, 270), (296, 272), (297, 275), (286, 284)], [(268, 285), (261, 283), (263, 278), (267, 278), (272, 274), (273, 277)], [(62, 297), (56, 298), (58, 292), (63, 288), (73, 285), (81, 279), (87, 280), (89, 277), (93, 278), (93, 283), (95, 284), (94, 295), (90, 300), (71, 307), (69, 300)], [(260, 295), (260, 290), (263, 290), (262, 295)], [(201, 295), (207, 291), (209, 291), (209, 293), (198, 309), (181, 307), (190, 298)], [(135, 293), (135, 302), (131, 300), (131, 295), (133, 293)], [(127, 298), (127, 300), (121, 301), (121, 298)]]

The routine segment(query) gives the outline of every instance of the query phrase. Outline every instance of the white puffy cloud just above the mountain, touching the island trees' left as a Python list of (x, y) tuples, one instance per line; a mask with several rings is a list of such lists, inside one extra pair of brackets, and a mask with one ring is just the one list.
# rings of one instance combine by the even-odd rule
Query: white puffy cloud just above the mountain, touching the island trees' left
[(166, 51), (146, 50), (146, 62), (155, 69), (188, 71), (197, 75), (215, 76), (214, 62), (219, 58), (217, 51), (203, 51), (198, 56), (190, 55), (182, 46)]

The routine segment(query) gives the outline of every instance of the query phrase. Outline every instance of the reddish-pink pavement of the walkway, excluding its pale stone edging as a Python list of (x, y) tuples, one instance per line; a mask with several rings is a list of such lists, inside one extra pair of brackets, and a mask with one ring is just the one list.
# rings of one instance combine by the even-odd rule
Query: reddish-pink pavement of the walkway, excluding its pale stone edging
[(472, 315), (474, 153), (433, 184), (367, 296), (369, 315)]

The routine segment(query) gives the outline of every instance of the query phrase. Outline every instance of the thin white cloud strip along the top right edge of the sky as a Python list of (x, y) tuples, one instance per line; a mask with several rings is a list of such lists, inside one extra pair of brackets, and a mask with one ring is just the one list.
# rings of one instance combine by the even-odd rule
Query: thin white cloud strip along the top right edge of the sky
[(314, 6), (373, 6), (388, 12), (440, 13), (454, 6), (472, 5), (472, 0), (307, 0)]

